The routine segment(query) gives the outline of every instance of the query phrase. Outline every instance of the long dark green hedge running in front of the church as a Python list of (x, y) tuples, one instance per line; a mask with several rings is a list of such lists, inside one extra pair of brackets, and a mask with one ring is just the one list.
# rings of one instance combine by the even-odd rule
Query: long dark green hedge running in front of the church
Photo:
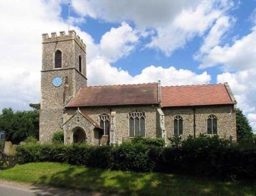
[(255, 147), (242, 148), (218, 142), (217, 139), (207, 144), (202, 140), (190, 139), (180, 147), (156, 147), (132, 142), (116, 147), (28, 144), (17, 148), (17, 158), (19, 163), (65, 162), (102, 169), (255, 179)]

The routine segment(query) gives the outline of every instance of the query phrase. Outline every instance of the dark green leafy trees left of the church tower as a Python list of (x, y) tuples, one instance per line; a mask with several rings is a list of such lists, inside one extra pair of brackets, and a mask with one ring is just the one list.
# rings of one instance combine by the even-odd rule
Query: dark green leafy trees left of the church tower
[(0, 130), (6, 132), (6, 140), (13, 144), (25, 140), (29, 136), (39, 135), (39, 112), (38, 110), (17, 111), (3, 109), (0, 114)]

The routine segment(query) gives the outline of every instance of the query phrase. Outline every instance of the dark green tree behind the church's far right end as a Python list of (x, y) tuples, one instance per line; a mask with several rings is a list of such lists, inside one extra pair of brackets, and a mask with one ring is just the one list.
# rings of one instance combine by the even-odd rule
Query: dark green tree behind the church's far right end
[(243, 111), (240, 109), (236, 110), (236, 133), (237, 140), (244, 140), (253, 138), (252, 126), (246, 116), (244, 116)]

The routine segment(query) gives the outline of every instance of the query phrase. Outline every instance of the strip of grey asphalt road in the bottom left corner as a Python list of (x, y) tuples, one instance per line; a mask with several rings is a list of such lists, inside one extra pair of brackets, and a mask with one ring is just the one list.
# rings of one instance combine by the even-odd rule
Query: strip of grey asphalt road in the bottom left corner
[(100, 193), (86, 193), (78, 190), (52, 188), (49, 186), (35, 186), (13, 183), (8, 181), (0, 181), (0, 196), (40, 196), (40, 195), (93, 195), (100, 196)]

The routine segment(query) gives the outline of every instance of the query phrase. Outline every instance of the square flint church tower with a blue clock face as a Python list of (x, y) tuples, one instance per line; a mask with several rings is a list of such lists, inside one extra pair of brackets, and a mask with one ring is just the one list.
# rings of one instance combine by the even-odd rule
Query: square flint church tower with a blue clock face
[(76, 32), (42, 34), (40, 142), (61, 129), (65, 105), (86, 81), (86, 45)]

